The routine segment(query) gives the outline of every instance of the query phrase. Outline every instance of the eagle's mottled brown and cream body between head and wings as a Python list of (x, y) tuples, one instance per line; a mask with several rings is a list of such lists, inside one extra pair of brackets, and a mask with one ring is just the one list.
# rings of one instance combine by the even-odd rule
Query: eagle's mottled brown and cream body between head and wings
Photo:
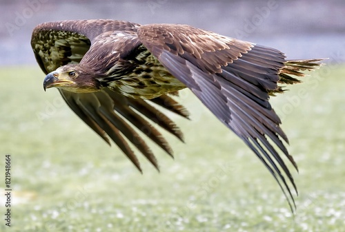
[[(103, 50), (98, 51), (100, 46)], [(80, 65), (90, 67), (101, 85), (124, 96), (151, 99), (186, 87), (132, 33), (100, 34), (85, 57)]]

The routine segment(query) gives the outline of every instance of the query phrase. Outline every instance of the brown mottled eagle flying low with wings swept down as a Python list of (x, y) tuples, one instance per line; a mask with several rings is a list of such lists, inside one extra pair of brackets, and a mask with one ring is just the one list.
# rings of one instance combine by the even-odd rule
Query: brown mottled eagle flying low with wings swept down
[(274, 48), (190, 25), (107, 19), (41, 23), (31, 45), (46, 74), (43, 89), (56, 87), (75, 114), (139, 171), (133, 146), (159, 169), (143, 137), (170, 156), (160, 129), (184, 141), (167, 112), (189, 118), (176, 96), (188, 88), (263, 162), (296, 209), (290, 189), (298, 195), (297, 187), (280, 154), (298, 169), (269, 98), (300, 83), (303, 71), (322, 59), (286, 60)]

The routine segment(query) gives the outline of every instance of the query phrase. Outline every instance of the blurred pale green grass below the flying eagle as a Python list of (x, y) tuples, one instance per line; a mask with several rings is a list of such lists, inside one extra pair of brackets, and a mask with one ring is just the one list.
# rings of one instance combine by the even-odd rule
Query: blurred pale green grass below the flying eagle
[(0, 76), (10, 231), (344, 231), (344, 66), (323, 67), (272, 99), (299, 165), (294, 217), (262, 163), (189, 92), (182, 98), (192, 121), (174, 116), (186, 144), (168, 136), (175, 160), (155, 147), (161, 173), (141, 158), (141, 175), (56, 89), (43, 92), (38, 67), (7, 67)]

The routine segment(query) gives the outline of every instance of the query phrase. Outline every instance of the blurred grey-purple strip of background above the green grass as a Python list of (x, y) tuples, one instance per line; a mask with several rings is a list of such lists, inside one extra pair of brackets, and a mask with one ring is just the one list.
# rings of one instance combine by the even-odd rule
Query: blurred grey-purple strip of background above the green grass
[(66, 19), (185, 23), (278, 48), (291, 59), (328, 57), (344, 61), (342, 0), (1, 0), (0, 4), (0, 65), (34, 64), (32, 28), (45, 21)]

